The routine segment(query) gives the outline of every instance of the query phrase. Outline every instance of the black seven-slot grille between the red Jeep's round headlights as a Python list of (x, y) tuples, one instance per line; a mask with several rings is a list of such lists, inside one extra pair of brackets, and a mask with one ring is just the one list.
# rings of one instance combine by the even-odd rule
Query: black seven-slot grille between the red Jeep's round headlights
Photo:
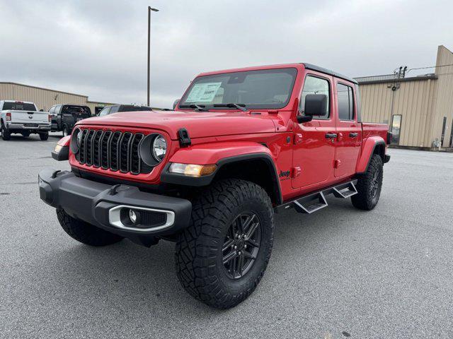
[(152, 167), (139, 157), (142, 133), (82, 129), (76, 160), (81, 164), (122, 173), (149, 173)]

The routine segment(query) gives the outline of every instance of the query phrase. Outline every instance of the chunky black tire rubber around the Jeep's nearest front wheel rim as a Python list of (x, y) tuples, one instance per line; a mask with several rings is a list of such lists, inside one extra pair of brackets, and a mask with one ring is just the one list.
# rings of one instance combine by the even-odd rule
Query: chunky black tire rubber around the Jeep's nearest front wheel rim
[[(222, 262), (226, 232), (241, 213), (252, 211), (260, 222), (260, 246), (251, 268), (236, 280)], [(226, 179), (193, 201), (190, 226), (176, 243), (178, 279), (195, 299), (228, 309), (246, 299), (260, 282), (273, 246), (274, 212), (266, 191), (252, 182)]]

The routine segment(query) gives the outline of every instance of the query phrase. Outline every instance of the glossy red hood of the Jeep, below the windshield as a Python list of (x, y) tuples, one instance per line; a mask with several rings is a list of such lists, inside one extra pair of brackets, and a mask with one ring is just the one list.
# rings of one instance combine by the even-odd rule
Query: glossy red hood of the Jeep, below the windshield
[(277, 119), (277, 117), (268, 113), (140, 111), (120, 112), (104, 117), (88, 118), (79, 124), (159, 129), (166, 131), (173, 140), (176, 140), (178, 130), (182, 128), (187, 129), (190, 138), (273, 133), (275, 132), (274, 119)]

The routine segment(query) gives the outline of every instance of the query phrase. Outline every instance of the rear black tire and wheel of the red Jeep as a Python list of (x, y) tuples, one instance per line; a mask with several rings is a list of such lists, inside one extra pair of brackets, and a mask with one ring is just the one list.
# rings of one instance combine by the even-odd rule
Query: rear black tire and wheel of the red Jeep
[[(359, 181), (355, 186), (357, 194), (351, 196), (352, 205), (360, 210), (372, 210), (376, 207), (381, 195), (382, 178), (384, 174), (384, 167), (382, 158), (378, 154), (373, 154), (367, 172), (360, 174)], [(377, 175), (377, 177), (375, 177)], [(373, 194), (374, 182), (377, 184), (376, 194)]]

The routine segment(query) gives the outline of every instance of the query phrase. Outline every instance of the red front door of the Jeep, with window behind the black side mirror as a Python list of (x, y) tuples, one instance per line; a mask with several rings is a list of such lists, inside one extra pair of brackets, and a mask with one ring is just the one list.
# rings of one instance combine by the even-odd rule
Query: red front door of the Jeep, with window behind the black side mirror
[(292, 187), (321, 186), (333, 177), (335, 155), (335, 119), (333, 114), (332, 78), (321, 73), (307, 73), (299, 96), (299, 114), (304, 115), (305, 97), (308, 94), (325, 94), (328, 97), (326, 114), (314, 117), (294, 129)]

